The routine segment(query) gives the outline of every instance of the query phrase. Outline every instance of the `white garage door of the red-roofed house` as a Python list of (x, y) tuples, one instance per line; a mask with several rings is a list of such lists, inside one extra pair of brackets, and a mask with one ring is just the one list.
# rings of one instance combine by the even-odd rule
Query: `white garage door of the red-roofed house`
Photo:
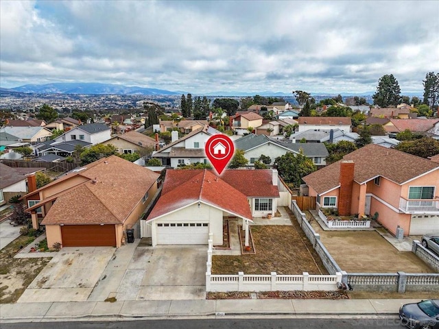
[(157, 223), (158, 245), (206, 245), (209, 223)]

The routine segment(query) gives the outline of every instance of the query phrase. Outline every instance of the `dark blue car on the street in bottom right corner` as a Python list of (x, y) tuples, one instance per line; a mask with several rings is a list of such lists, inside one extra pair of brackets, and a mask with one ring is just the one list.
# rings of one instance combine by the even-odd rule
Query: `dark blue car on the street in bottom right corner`
[(439, 329), (439, 300), (404, 304), (399, 308), (399, 319), (409, 328)]

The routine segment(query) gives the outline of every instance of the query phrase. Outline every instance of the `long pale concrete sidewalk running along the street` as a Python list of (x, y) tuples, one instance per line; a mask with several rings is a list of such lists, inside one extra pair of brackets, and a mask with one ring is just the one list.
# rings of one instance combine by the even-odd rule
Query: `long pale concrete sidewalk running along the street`
[(145, 300), (126, 302), (47, 302), (1, 305), (2, 322), (55, 319), (287, 316), (396, 316), (401, 305), (419, 300)]

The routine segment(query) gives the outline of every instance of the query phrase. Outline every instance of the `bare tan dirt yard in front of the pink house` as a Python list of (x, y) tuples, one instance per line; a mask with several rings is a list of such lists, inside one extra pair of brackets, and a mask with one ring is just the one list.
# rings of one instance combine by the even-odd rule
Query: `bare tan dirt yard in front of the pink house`
[[(307, 217), (311, 216), (307, 212)], [(311, 226), (337, 264), (353, 273), (436, 273), (412, 252), (399, 252), (375, 231), (324, 231), (311, 219)]]

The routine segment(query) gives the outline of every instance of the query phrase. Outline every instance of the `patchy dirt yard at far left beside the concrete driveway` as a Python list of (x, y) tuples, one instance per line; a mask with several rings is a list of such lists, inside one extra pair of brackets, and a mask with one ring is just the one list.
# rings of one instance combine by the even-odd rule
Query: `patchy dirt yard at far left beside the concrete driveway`
[(51, 258), (14, 258), (34, 237), (19, 236), (0, 250), (0, 304), (16, 302)]

